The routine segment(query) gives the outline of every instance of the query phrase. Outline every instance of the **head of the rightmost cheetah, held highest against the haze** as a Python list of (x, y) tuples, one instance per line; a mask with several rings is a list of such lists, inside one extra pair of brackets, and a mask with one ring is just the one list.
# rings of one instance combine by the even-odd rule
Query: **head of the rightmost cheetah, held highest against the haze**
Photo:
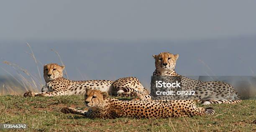
[(153, 55), (153, 57), (155, 59), (156, 69), (174, 70), (179, 54), (173, 55), (169, 52), (161, 52), (159, 55)]

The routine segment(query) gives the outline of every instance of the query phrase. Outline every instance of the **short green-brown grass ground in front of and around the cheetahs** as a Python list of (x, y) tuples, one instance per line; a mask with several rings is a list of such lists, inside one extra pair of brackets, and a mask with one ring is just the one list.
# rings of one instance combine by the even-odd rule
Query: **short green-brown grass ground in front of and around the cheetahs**
[[(25, 123), (29, 131), (256, 131), (256, 101), (245, 100), (236, 105), (209, 105), (214, 116), (192, 118), (111, 120), (87, 119), (63, 114), (61, 107), (85, 109), (82, 96), (28, 97), (0, 96), (0, 123)], [(124, 98), (119, 98), (124, 99)], [(205, 107), (205, 106), (203, 106)], [(217, 116), (216, 116), (217, 115)], [(0, 130), (10, 131), (10, 130)], [(20, 130), (12, 130), (20, 131)]]

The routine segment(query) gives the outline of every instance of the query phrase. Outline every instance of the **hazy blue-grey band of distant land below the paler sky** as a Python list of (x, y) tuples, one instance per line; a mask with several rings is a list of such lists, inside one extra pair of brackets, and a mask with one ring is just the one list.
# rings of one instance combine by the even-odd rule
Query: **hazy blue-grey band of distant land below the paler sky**
[[(176, 71), (181, 75), (255, 75), (256, 37), (238, 36), (226, 39), (193, 41), (27, 41), (42, 63), (58, 63), (59, 52), (70, 79), (114, 80), (135, 76), (148, 83), (154, 71), (153, 54), (171, 52), (179, 54)], [(28, 69), (37, 75), (36, 64), (28, 55), (26, 42), (0, 42), (0, 57)], [(8, 44), (8, 45), (4, 45)], [(16, 48), (13, 48), (16, 47)], [(28, 53), (26, 53), (28, 52)], [(0, 63), (0, 67), (15, 73), (12, 67)], [(43, 68), (40, 64), (42, 76)], [(7, 75), (1, 69), (0, 75)]]

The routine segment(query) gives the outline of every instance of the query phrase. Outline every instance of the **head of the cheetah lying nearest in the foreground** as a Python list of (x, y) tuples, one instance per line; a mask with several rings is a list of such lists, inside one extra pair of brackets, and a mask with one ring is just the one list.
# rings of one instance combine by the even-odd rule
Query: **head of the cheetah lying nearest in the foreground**
[(101, 92), (100, 90), (86, 90), (86, 94), (84, 95), (84, 104), (87, 107), (100, 107), (104, 104), (107, 97), (107, 92)]

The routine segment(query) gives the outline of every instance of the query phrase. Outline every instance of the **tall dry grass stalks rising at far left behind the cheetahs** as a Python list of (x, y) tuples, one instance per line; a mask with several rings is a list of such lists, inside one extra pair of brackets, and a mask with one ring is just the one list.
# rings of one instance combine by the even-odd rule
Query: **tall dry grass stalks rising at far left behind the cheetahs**
[[(44, 78), (41, 76), (41, 70), (43, 69), (44, 65), (36, 59), (36, 56), (31, 48), (31, 46), (26, 43), (28, 46), (30, 52), (26, 52), (35, 63), (37, 74), (33, 75), (31, 74), (31, 71), (27, 70), (24, 67), (21, 67), (19, 64), (15, 64), (10, 61), (4, 60), (3, 63), (6, 65), (9, 65), (13, 68), (15, 71), (14, 74), (9, 72), (8, 70), (5, 70), (1, 67), (2, 70), (4, 70), (9, 77), (5, 77), (3, 79), (8, 79), (7, 81), (3, 82), (3, 84), (0, 82), (0, 95), (19, 95), (23, 94), (24, 91), (34, 91), (34, 92), (40, 92), (41, 88), (45, 85)], [(59, 58), (61, 65), (64, 65), (63, 61), (61, 60), (61, 57), (59, 55), (59, 52), (56, 50), (51, 49)], [(64, 77), (69, 79), (67, 71), (64, 69)], [(82, 76), (82, 75), (81, 75)], [(1, 78), (0, 78), (1, 79)]]

